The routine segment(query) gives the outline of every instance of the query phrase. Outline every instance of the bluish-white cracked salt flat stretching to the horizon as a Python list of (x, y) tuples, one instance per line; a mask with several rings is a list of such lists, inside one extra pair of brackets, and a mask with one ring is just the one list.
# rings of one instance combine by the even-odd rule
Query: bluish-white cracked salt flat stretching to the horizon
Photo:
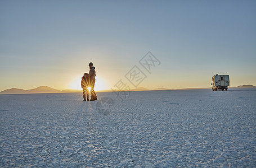
[(256, 90), (0, 95), (0, 167), (256, 167)]

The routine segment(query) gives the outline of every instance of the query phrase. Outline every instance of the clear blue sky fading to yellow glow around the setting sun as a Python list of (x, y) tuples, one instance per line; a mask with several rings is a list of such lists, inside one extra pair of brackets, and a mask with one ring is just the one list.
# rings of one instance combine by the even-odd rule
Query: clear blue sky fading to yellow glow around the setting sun
[(0, 91), (79, 88), (89, 62), (95, 90), (134, 88), (134, 66), (149, 89), (211, 87), (214, 74), (255, 86), (256, 1), (0, 1)]

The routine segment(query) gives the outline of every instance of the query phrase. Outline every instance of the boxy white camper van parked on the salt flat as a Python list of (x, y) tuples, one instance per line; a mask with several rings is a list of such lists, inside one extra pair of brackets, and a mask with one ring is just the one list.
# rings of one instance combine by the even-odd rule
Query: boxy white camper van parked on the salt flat
[(230, 86), (230, 76), (226, 74), (216, 74), (212, 78), (212, 89), (213, 91), (227, 90), (227, 87)]

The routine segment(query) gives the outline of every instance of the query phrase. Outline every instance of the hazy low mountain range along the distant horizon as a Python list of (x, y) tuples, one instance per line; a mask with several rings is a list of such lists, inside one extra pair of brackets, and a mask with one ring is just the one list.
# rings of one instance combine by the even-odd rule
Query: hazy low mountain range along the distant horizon
[[(177, 89), (177, 90), (193, 90), (193, 89), (210, 89), (211, 87), (208, 88), (183, 88), (183, 89)], [(230, 87), (230, 88), (256, 88), (253, 85), (240, 85), (237, 87)], [(145, 87), (137, 87), (134, 88), (131, 91), (146, 91), (150, 90)], [(169, 88), (155, 88), (153, 90), (174, 90), (174, 89), (169, 89)], [(112, 91), (112, 90), (106, 90), (106, 91)], [(55, 88), (51, 88), (48, 86), (39, 86), (37, 88), (33, 88), (30, 90), (24, 90), (21, 88), (10, 88), (4, 91), (1, 91), (0, 94), (48, 94), (48, 93), (68, 93), (68, 92), (81, 92), (81, 90), (56, 90)]]

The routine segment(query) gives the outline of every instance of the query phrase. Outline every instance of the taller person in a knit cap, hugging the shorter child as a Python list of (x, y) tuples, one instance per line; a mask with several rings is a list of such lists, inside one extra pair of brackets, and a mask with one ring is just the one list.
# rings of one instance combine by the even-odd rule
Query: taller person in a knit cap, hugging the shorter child
[(95, 67), (93, 67), (92, 62), (89, 63), (89, 68), (90, 68), (90, 71), (89, 71), (89, 74), (86, 75), (86, 77), (89, 78), (89, 87), (91, 87), (91, 99), (90, 99), (90, 101), (93, 101), (93, 100), (97, 100), (97, 96), (96, 96), (96, 93), (94, 91), (96, 71), (95, 71)]

